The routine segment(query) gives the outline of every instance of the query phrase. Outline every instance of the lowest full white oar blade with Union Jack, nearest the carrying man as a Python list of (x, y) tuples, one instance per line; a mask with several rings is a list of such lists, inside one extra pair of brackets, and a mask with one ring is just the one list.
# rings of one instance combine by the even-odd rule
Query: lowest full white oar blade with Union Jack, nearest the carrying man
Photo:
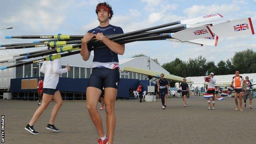
[(193, 39), (202, 39), (206, 37), (214, 37), (213, 32), (208, 26), (194, 27), (186, 30), (181, 30), (171, 34), (171, 37), (179, 41), (190, 41)]

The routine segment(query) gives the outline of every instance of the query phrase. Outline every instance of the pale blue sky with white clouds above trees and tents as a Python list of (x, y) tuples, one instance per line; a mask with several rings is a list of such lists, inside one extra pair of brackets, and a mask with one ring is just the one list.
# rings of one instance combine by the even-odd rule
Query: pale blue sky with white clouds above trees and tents
[[(5, 39), (6, 35), (84, 35), (99, 25), (95, 13), (99, 0), (1, 0), (0, 43), (29, 43), (38, 39)], [(256, 0), (108, 0), (114, 11), (110, 24), (132, 32), (207, 14), (219, 13), (224, 19), (251, 17), (256, 31)], [(157, 58), (160, 64), (176, 57), (183, 61), (199, 55), (207, 61), (230, 59), (235, 52), (256, 49), (256, 35), (219, 39), (218, 46), (194, 46), (170, 41), (140, 41), (126, 44), (127, 59), (143, 53)], [(0, 59), (17, 53), (45, 48), (0, 50)], [(92, 53), (93, 54), (93, 53)]]

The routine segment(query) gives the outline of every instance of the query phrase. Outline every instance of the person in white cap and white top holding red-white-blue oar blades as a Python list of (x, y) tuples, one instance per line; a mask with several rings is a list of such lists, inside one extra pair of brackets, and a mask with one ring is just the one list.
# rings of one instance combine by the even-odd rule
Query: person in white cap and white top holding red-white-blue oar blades
[[(207, 94), (213, 94), (213, 108), (212, 110), (215, 110), (215, 82), (216, 82), (216, 78), (214, 77), (214, 73), (210, 73), (210, 75), (208, 75), (208, 78), (210, 78), (209, 82), (208, 82), (208, 89), (207, 89)], [(208, 110), (211, 109), (211, 105), (210, 105), (210, 98), (207, 99), (208, 102)]]

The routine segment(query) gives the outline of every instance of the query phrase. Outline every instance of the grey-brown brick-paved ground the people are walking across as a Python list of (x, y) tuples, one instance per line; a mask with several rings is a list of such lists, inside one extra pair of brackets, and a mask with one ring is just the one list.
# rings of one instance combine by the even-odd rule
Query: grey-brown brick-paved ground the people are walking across
[[(216, 101), (216, 110), (206, 110), (202, 96), (191, 96), (188, 106), (181, 98), (161, 102), (117, 101), (117, 126), (114, 144), (255, 144), (256, 106), (234, 111), (233, 98)], [(55, 125), (62, 130), (47, 130), (53, 102), (35, 127), (39, 135), (24, 130), (37, 102), (0, 99), (0, 114), (5, 115), (6, 144), (96, 144), (98, 135), (86, 110), (86, 101), (64, 101)], [(254, 104), (254, 103), (253, 103)], [(100, 105), (98, 105), (99, 107)], [(103, 119), (105, 112), (101, 111)], [(105, 128), (105, 121), (103, 122)]]

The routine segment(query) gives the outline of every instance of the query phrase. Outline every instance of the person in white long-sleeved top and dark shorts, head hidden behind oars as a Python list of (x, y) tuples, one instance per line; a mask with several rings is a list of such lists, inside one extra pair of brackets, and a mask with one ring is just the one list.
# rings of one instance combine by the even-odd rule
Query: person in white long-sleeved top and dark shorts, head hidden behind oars
[(43, 62), (43, 65), (40, 69), (41, 73), (44, 73), (44, 82), (43, 82), (43, 101), (41, 105), (37, 108), (37, 110), (34, 112), (34, 115), (30, 122), (25, 127), (25, 130), (28, 132), (37, 135), (38, 132), (35, 131), (34, 123), (37, 121), (37, 119), (41, 116), (43, 111), (48, 107), (49, 103), (54, 100), (55, 105), (53, 107), (50, 121), (48, 123), (48, 126), (46, 129), (53, 130), (55, 132), (59, 132), (59, 129), (57, 129), (54, 126), (55, 117), (59, 111), (59, 108), (62, 106), (62, 96), (59, 93), (59, 90), (56, 89), (58, 82), (59, 82), (59, 75), (62, 73), (66, 73), (67, 71), (70, 71), (70, 67), (66, 65), (66, 68), (61, 69), (61, 63), (60, 59), (55, 59), (54, 61), (45, 61)]

